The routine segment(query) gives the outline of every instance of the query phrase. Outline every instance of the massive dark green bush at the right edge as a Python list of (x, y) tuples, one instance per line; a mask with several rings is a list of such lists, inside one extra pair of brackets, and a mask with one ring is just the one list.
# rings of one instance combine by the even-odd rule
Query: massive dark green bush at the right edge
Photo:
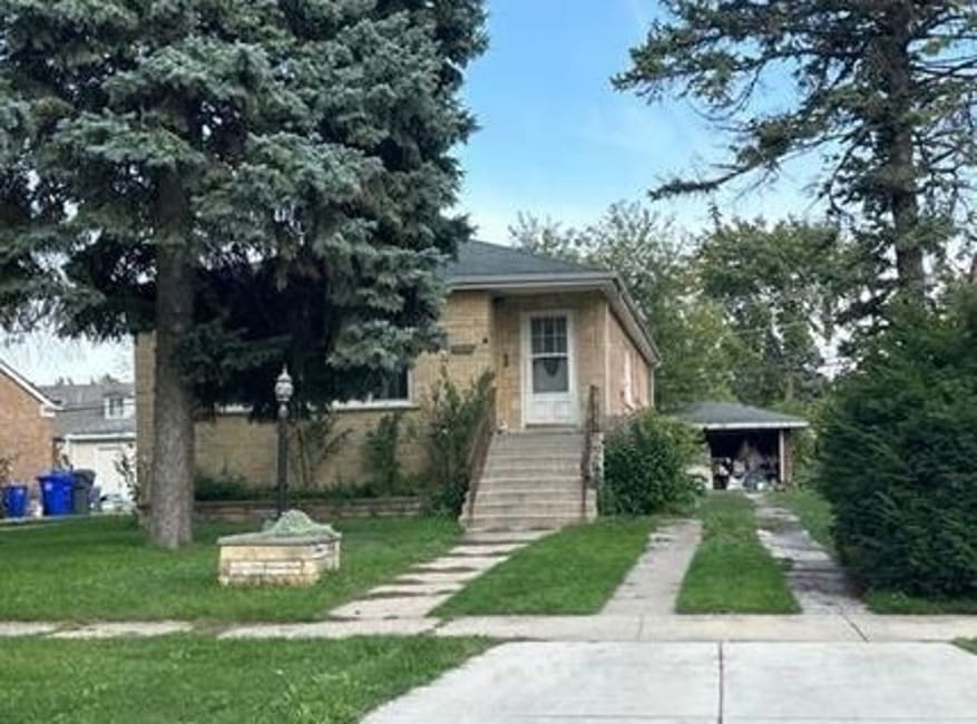
[(977, 299), (902, 311), (820, 440), (842, 560), (871, 588), (977, 593)]

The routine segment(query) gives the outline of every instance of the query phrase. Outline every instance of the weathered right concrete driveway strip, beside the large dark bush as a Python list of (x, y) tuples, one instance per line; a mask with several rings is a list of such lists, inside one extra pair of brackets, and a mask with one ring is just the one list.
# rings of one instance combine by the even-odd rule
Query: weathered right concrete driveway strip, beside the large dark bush
[(797, 515), (770, 500), (756, 499), (756, 535), (778, 560), (788, 562), (788, 583), (805, 614), (866, 613), (838, 562), (811, 537)]

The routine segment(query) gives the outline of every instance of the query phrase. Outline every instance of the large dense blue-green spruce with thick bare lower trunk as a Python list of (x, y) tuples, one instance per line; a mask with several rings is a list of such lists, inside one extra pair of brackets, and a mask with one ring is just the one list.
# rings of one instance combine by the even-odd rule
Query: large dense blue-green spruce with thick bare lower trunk
[[(392, 369), (433, 337), (482, 19), (480, 0), (0, 0), (22, 114), (0, 129), (37, 234), (11, 258), (67, 263), (66, 331), (155, 331), (159, 544), (190, 538), (195, 381)], [(233, 315), (255, 297), (258, 332)]]

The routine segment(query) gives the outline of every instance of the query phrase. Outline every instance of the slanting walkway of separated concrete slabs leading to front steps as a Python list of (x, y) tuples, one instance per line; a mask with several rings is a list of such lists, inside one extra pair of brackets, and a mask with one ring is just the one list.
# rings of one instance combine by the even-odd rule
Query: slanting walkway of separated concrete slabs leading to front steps
[(472, 579), (551, 531), (468, 534), (444, 556), (416, 566), (393, 581), (329, 613), (333, 619), (422, 618)]

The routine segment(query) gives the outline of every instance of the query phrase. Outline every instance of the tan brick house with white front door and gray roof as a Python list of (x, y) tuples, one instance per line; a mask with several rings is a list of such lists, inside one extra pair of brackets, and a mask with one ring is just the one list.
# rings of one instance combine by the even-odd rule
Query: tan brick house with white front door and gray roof
[[(422, 355), (384, 399), (339, 405), (341, 429), (353, 434), (317, 476), (321, 485), (362, 480), (361, 441), (391, 410), (420, 415), (440, 368), (459, 384), (491, 371), (496, 418), (509, 431), (579, 428), (588, 391), (599, 390), (604, 414), (648, 407), (654, 398), (654, 342), (621, 280), (612, 272), (471, 242), (444, 268), (449, 295), (441, 326), (447, 345)], [(152, 337), (136, 344), (140, 467), (149, 464), (153, 425)], [(270, 380), (268, 384), (273, 381)], [(197, 424), (197, 466), (267, 485), (275, 474), (274, 427), (225, 413)], [(420, 444), (402, 446), (406, 470), (423, 463)]]

